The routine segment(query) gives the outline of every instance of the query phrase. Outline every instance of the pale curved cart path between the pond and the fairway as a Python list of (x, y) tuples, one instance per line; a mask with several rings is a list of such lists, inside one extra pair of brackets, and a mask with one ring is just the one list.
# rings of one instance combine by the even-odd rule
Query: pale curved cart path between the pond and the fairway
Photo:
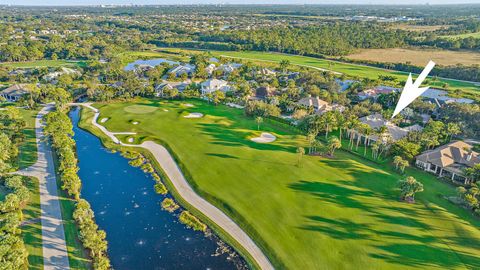
[(187, 201), (190, 205), (201, 211), (205, 216), (215, 222), (218, 226), (222, 227), (229, 235), (231, 235), (243, 248), (250, 253), (255, 259), (261, 269), (271, 270), (274, 269), (268, 258), (263, 254), (262, 250), (253, 242), (253, 240), (227, 215), (225, 215), (218, 208), (207, 202), (200, 197), (188, 184), (187, 180), (180, 171), (177, 163), (170, 155), (168, 150), (160, 144), (152, 141), (143, 142), (140, 145), (132, 145), (122, 143), (115, 137), (116, 132), (108, 131), (104, 126), (97, 123), (100, 112), (97, 108), (91, 106), (90, 103), (73, 103), (74, 106), (84, 106), (95, 112), (95, 116), (92, 119), (92, 124), (99, 128), (105, 135), (111, 138), (115, 143), (123, 146), (142, 147), (149, 150), (157, 162), (160, 164), (165, 174), (168, 176), (173, 186), (177, 190), (178, 194)]

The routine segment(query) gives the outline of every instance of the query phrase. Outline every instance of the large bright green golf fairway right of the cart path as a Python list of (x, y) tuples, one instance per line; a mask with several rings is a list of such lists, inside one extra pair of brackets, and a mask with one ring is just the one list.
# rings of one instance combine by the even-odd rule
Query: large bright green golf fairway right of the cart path
[[(242, 110), (188, 102), (195, 107), (147, 99), (94, 106), (100, 119), (109, 118), (110, 131), (166, 144), (192, 186), (278, 269), (480, 268), (480, 220), (443, 198), (455, 194), (453, 187), (408, 169), (425, 192), (416, 204), (400, 202), (396, 183), (405, 176), (387, 164), (337, 151), (333, 159), (304, 156), (297, 166), (304, 136), (264, 123), (261, 130), (278, 140), (257, 144), (248, 139), (257, 125)], [(159, 109), (136, 114), (124, 109), (131, 105)], [(189, 112), (205, 117), (184, 118)]]

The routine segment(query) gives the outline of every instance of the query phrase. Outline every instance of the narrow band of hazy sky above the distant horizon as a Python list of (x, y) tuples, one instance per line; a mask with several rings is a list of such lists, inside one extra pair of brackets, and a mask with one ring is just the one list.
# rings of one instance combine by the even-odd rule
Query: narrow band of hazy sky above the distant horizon
[(461, 4), (480, 4), (480, 0), (402, 0), (402, 1), (387, 1), (387, 0), (191, 0), (191, 1), (172, 1), (172, 0), (70, 0), (67, 3), (62, 0), (0, 0), (0, 5), (14, 5), (14, 6), (98, 6), (98, 5), (461, 5)]

